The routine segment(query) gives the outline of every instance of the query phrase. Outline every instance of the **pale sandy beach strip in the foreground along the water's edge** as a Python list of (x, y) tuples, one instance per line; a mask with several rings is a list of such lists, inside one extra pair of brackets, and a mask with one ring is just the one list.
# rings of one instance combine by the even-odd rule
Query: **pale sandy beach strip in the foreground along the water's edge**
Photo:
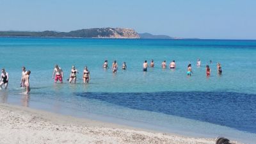
[[(211, 143), (214, 139), (134, 129), (0, 104), (0, 143)], [(235, 142), (234, 142), (235, 143)]]

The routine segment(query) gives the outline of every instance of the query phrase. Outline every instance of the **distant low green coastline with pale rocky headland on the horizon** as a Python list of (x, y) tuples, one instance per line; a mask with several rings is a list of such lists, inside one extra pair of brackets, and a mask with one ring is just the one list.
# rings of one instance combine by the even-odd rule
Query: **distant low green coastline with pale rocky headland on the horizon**
[(183, 39), (167, 35), (137, 33), (129, 28), (91, 28), (70, 32), (58, 31), (0, 31), (0, 37), (40, 37), (40, 38), (142, 38), (142, 39)]

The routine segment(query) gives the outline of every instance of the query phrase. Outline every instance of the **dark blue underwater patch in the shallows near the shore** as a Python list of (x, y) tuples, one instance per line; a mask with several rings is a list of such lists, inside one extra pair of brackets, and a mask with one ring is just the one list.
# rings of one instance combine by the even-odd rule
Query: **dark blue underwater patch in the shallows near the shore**
[(75, 93), (132, 109), (256, 133), (256, 95), (234, 92)]

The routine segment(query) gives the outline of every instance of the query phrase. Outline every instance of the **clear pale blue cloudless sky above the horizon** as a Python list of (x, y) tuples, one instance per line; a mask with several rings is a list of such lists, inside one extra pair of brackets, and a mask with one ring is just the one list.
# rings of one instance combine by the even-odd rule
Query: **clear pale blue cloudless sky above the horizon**
[(256, 1), (0, 0), (0, 31), (107, 27), (179, 38), (256, 40)]

